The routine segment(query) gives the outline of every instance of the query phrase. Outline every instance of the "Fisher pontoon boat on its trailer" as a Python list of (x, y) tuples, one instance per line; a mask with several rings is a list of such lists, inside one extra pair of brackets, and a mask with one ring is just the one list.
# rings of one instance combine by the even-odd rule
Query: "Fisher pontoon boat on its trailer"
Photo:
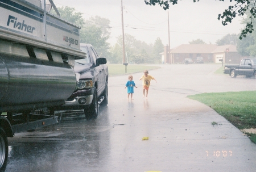
[(65, 103), (77, 86), (75, 60), (88, 57), (80, 50), (80, 28), (61, 19), (52, 0), (0, 0), (0, 15), (0, 171), (5, 171), (7, 137), (57, 123), (54, 112), (40, 109)]

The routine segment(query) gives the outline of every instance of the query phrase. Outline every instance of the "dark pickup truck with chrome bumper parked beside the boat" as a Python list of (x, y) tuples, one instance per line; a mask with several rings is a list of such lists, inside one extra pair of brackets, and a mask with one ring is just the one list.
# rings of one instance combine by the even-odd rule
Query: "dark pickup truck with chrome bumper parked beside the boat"
[(92, 45), (81, 43), (80, 48), (87, 58), (75, 60), (76, 89), (65, 104), (49, 110), (84, 110), (87, 119), (97, 118), (99, 104), (108, 104), (108, 66), (106, 58), (98, 57)]

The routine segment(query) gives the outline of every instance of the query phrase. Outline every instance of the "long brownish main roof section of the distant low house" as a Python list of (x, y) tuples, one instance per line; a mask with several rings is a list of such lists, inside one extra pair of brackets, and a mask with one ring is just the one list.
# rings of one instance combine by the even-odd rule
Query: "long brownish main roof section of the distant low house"
[(212, 53), (217, 47), (214, 44), (181, 44), (171, 53)]

